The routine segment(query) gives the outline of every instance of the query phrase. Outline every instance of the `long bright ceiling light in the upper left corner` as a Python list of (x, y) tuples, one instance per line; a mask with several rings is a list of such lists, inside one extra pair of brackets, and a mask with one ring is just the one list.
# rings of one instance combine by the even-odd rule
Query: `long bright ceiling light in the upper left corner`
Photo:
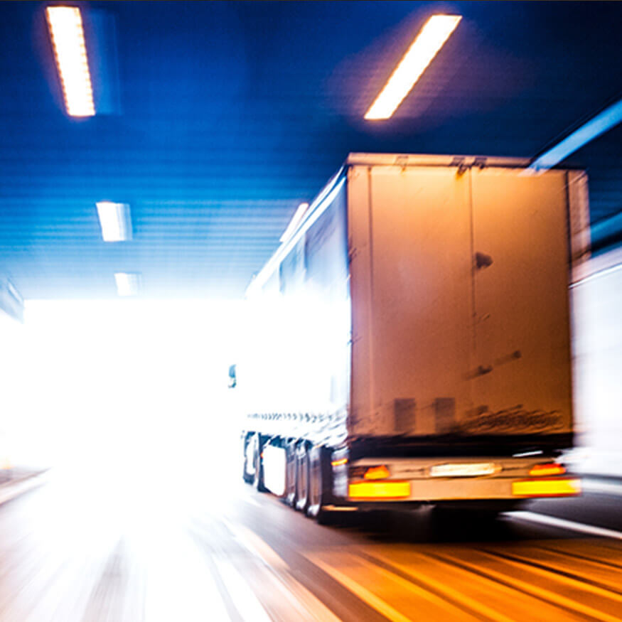
[(67, 112), (72, 117), (92, 117), (95, 104), (80, 9), (48, 6), (45, 14)]

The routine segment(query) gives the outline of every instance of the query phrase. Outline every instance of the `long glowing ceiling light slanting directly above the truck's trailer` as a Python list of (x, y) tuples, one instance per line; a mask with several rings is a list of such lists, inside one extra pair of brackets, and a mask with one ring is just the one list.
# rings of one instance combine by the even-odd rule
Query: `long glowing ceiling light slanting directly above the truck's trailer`
[(389, 119), (419, 80), (459, 21), (459, 15), (433, 15), (404, 54), (387, 84), (365, 113), (365, 119)]

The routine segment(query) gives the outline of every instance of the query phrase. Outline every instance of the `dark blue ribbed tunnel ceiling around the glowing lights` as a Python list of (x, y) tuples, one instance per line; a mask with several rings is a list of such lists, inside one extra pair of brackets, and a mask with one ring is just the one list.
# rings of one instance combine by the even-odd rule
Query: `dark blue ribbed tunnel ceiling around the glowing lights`
[[(76, 3), (68, 3), (76, 4)], [(68, 117), (38, 2), (0, 4), (0, 275), (32, 298), (241, 296), (349, 151), (533, 157), (622, 97), (622, 4), (82, 3), (97, 114)], [(454, 36), (363, 114), (434, 13)], [(620, 127), (566, 163), (622, 210)], [(102, 241), (95, 203), (130, 205)]]

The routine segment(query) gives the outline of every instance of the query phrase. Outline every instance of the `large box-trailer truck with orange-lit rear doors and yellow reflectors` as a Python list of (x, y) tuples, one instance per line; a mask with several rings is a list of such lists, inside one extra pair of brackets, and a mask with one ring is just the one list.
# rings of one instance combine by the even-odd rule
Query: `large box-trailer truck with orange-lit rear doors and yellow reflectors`
[(350, 154), (247, 289), (242, 477), (320, 521), (577, 495), (584, 171)]

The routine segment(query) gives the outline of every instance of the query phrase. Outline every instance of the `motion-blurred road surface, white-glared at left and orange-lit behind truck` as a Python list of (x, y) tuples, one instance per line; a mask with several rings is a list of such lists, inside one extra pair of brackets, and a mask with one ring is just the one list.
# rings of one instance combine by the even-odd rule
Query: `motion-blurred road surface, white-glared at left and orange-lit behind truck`
[(0, 505), (0, 621), (622, 619), (622, 533), (538, 522), (613, 530), (622, 497), (320, 526), (212, 476), (121, 489), (59, 476)]

